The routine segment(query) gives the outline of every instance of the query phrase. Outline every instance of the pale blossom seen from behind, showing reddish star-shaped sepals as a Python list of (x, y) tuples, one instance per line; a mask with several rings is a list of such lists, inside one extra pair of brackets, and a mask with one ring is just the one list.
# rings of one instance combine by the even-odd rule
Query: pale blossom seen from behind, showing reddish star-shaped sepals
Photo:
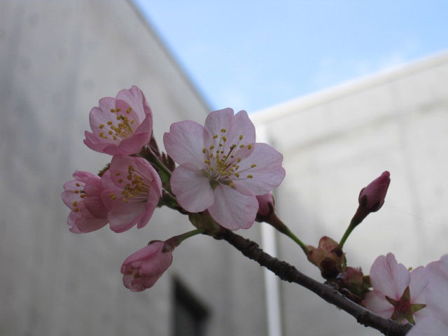
[(400, 323), (419, 323), (426, 316), (428, 273), (425, 267), (409, 272), (395, 256), (380, 255), (370, 269), (373, 290), (365, 295), (365, 307)]

